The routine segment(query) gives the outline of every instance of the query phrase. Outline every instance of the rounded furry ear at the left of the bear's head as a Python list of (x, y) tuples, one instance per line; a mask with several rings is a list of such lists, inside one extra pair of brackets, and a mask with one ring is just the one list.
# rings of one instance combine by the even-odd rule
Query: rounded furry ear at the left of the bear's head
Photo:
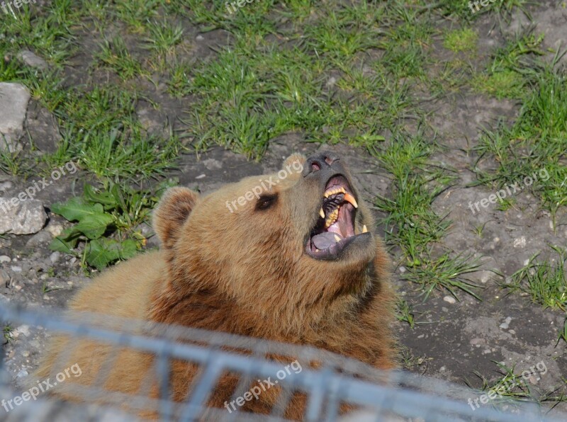
[(165, 248), (172, 248), (179, 230), (195, 207), (199, 194), (188, 188), (169, 188), (154, 210), (154, 230)]

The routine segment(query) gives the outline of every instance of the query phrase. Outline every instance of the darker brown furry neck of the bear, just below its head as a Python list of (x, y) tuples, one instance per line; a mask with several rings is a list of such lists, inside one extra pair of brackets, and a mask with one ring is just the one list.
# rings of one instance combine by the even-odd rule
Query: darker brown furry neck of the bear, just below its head
[(290, 295), (274, 295), (251, 301), (230, 295), (210, 280), (170, 274), (160, 283), (162, 288), (152, 292), (150, 320), (324, 347), (326, 338), (343, 336), (342, 327), (352, 329), (353, 324), (362, 324), (361, 315), (380, 296), (381, 280), (372, 271), (361, 271), (356, 278), (360, 288), (353, 289), (352, 283), (349, 288), (335, 290), (332, 297), (293, 301)]

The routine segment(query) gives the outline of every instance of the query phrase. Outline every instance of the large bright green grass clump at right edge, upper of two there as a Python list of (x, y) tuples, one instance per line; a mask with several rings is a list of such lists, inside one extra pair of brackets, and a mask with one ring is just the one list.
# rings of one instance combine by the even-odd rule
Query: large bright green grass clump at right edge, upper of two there
[(487, 131), (476, 151), (478, 164), (485, 159), (495, 163), (493, 171), (476, 167), (479, 183), (499, 189), (537, 173), (539, 180), (530, 189), (555, 217), (567, 203), (567, 183), (563, 183), (567, 177), (567, 79), (563, 70), (542, 67), (514, 124)]

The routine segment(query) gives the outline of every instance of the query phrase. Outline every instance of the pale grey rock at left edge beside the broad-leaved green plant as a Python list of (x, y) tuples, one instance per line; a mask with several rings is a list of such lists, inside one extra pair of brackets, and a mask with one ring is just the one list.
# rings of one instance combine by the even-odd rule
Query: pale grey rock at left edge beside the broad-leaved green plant
[(46, 220), (40, 200), (0, 198), (0, 234), (34, 234), (43, 228)]

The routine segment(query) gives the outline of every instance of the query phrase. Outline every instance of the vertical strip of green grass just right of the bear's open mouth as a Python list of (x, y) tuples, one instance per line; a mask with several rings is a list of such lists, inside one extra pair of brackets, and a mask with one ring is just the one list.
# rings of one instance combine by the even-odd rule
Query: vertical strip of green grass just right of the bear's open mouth
[(472, 256), (451, 256), (449, 251), (433, 252), (447, 234), (451, 222), (432, 209), (432, 203), (453, 180), (447, 169), (430, 164), (437, 150), (422, 135), (398, 135), (375, 152), (383, 169), (392, 176), (390, 197), (378, 196), (376, 208), (386, 212), (386, 241), (400, 248), (402, 264), (408, 269), (404, 280), (420, 285), (424, 300), (434, 290), (458, 297), (459, 290), (473, 295), (478, 286), (466, 274), (478, 270)]

